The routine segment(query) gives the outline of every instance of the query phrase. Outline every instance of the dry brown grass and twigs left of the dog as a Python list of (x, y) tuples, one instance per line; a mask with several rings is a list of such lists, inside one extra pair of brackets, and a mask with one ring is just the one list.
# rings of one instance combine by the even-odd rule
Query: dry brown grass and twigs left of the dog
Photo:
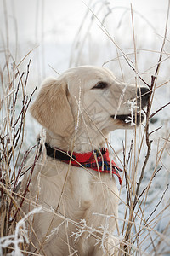
[[(36, 89), (32, 91), (31, 95), (27, 95), (26, 86), (31, 60), (27, 65), (26, 73), (20, 73), (19, 66), (16, 66), (12, 56), (7, 53), (6, 58), (5, 67), (0, 70), (2, 96), (0, 117), (0, 232), (1, 242), (10, 246), (10, 239), (11, 241), (16, 240), (16, 237), (13, 236), (16, 225), (21, 218), (22, 201), (20, 204), (17, 201), (20, 177), (23, 175), (26, 159), (32, 148), (35, 147), (27, 151), (23, 149), (26, 113)], [(13, 61), (12, 68), (8, 66), (11, 60)], [(8, 246), (3, 249), (4, 255), (8, 253)], [(2, 253), (2, 247), (0, 253)]]

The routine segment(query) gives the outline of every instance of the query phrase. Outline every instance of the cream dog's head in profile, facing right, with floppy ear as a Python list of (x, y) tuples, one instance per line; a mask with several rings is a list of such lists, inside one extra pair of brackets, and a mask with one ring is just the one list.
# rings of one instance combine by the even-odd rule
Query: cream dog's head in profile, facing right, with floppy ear
[(122, 83), (104, 67), (75, 67), (43, 82), (31, 114), (62, 137), (77, 127), (109, 132), (139, 125), (149, 95), (146, 87)]

